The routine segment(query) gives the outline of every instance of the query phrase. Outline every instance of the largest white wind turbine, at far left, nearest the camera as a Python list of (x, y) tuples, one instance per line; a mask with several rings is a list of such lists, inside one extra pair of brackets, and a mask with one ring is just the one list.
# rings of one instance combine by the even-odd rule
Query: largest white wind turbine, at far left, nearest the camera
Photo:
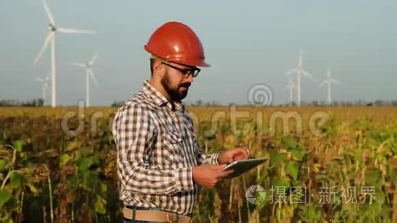
[(44, 10), (49, 18), (49, 31), (47, 37), (44, 40), (44, 44), (42, 45), (42, 49), (38, 53), (36, 60), (34, 60), (34, 64), (37, 64), (44, 50), (48, 47), (51, 42), (51, 107), (56, 107), (56, 79), (55, 79), (55, 33), (60, 32), (64, 34), (95, 34), (93, 31), (87, 31), (82, 29), (68, 29), (61, 28), (55, 25), (55, 21), (53, 15), (51, 14), (47, 2), (42, 0), (44, 5)]

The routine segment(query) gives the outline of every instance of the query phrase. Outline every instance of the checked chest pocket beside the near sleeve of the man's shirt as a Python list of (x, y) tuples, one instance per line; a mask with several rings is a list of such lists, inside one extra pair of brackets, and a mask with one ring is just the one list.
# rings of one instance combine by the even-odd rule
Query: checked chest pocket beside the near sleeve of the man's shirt
[(181, 135), (173, 132), (162, 133), (163, 156), (168, 163), (179, 163), (183, 161), (182, 146), (183, 140)]

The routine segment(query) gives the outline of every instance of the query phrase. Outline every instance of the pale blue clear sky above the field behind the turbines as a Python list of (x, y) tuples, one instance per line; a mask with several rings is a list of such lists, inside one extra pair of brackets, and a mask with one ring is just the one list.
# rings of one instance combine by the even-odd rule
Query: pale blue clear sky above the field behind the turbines
[[(83, 70), (69, 62), (99, 59), (91, 88), (92, 105), (129, 99), (149, 79), (149, 54), (143, 46), (168, 21), (192, 27), (201, 38), (206, 60), (186, 102), (202, 99), (248, 103), (257, 83), (273, 90), (274, 103), (289, 94), (285, 72), (303, 50), (303, 101), (326, 100), (318, 88), (330, 67), (333, 99), (397, 99), (397, 1), (95, 1), (48, 0), (60, 27), (97, 31), (96, 36), (58, 34), (57, 102), (77, 105), (85, 97)], [(36, 77), (50, 70), (45, 51), (33, 65), (47, 33), (48, 19), (40, 0), (5, 0), (0, 7), (0, 99), (41, 96)]]

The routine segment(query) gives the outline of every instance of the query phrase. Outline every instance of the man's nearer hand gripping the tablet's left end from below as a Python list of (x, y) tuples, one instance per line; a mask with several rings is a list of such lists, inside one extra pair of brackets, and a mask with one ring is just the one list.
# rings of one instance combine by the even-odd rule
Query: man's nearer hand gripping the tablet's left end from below
[(233, 170), (220, 172), (226, 165), (212, 165), (203, 164), (201, 166), (195, 166), (192, 169), (193, 181), (204, 187), (212, 189), (216, 186), (216, 183), (225, 176), (231, 174)]

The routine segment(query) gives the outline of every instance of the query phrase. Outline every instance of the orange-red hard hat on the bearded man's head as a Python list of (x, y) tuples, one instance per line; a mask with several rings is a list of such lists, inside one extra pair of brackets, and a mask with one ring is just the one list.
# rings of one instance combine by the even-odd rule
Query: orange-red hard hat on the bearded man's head
[(199, 38), (183, 23), (168, 22), (157, 28), (144, 49), (170, 62), (189, 66), (209, 66), (204, 61), (204, 50)]

